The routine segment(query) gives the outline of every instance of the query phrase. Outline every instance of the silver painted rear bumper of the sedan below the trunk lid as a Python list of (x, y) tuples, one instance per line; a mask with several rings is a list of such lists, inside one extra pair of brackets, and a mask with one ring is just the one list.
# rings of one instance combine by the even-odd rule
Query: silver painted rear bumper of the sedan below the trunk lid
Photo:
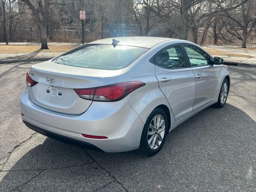
[[(92, 102), (83, 114), (69, 115), (34, 104), (26, 89), (20, 97), (20, 112), (24, 114), (22, 120), (26, 125), (32, 129), (40, 128), (36, 130), (41, 131), (39, 133), (50, 132), (69, 140), (85, 142), (104, 152), (138, 149), (144, 127), (127, 98), (118, 102)], [(106, 136), (108, 139), (84, 138), (82, 134)]]

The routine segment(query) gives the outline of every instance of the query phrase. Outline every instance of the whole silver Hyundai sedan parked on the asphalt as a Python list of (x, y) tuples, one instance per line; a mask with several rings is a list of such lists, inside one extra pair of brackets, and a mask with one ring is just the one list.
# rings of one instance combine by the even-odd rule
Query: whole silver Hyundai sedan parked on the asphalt
[(230, 87), (223, 59), (159, 37), (90, 42), (31, 66), (20, 97), (24, 124), (48, 137), (104, 152), (156, 154), (166, 134)]

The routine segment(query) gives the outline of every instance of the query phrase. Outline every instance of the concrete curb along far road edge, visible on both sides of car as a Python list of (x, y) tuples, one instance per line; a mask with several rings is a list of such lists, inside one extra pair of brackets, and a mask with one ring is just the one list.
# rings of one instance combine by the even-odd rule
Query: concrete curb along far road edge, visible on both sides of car
[[(47, 61), (54, 57), (44, 57), (44, 58), (31, 58), (31, 59), (16, 59), (16, 60), (0, 60), (0, 64), (8, 64), (8, 63), (19, 63), (19, 62), (32, 62), (32, 61)], [(238, 62), (227, 62), (224, 61), (224, 65), (230, 66), (239, 66), (239, 67), (252, 67), (256, 68), (254, 64), (246, 64), (246, 63), (238, 63)]]

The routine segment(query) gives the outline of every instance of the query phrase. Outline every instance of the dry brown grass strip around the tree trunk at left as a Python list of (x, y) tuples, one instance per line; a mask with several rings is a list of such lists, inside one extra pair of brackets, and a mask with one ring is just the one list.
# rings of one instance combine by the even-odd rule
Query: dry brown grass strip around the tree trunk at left
[(0, 54), (31, 52), (66, 52), (77, 45), (49, 45), (49, 49), (40, 49), (40, 45), (0, 45)]

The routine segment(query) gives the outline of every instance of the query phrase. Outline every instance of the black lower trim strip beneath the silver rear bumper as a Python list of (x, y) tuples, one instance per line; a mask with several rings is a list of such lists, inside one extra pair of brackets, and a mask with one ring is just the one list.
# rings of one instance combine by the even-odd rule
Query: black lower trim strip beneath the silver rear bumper
[(37, 126), (34, 126), (26, 121), (23, 121), (23, 123), (30, 129), (42, 134), (42, 135), (45, 135), (47, 137), (50, 137), (52, 139), (55, 139), (55, 140), (58, 140), (58, 141), (61, 141), (61, 142), (64, 142), (64, 143), (68, 143), (68, 144), (71, 144), (71, 145), (75, 145), (75, 146), (80, 146), (82, 148), (86, 148), (86, 149), (90, 149), (90, 150), (95, 150), (95, 151), (100, 151), (100, 152), (103, 152), (100, 148), (90, 144), (90, 143), (87, 143), (87, 142), (83, 142), (83, 141), (80, 141), (80, 140), (76, 140), (76, 139), (72, 139), (72, 138), (69, 138), (69, 137), (65, 137), (63, 135), (59, 135), (59, 134), (56, 134), (56, 133), (53, 133), (53, 132), (50, 132), (50, 131), (47, 131), (45, 129), (42, 129), (42, 128), (39, 128)]

